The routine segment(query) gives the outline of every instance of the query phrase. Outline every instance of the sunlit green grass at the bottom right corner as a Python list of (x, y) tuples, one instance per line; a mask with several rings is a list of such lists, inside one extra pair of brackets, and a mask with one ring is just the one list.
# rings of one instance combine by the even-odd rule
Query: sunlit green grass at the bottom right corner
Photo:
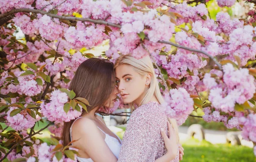
[(213, 145), (210, 142), (199, 142), (188, 139), (182, 144), (183, 162), (255, 162), (253, 148), (232, 146), (230, 144)]

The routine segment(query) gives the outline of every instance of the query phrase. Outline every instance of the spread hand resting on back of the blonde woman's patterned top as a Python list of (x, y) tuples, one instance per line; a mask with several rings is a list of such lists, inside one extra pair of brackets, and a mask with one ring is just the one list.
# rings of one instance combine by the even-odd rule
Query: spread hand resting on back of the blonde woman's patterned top
[(170, 157), (170, 161), (172, 159), (175, 159), (176, 155), (177, 155), (177, 138), (176, 138), (176, 133), (175, 130), (172, 128), (171, 124), (169, 122), (167, 122), (168, 124), (168, 131), (169, 131), (169, 138), (166, 135), (166, 133), (164, 132), (163, 128), (161, 128), (161, 134), (163, 136), (163, 140), (164, 140), (164, 144), (167, 148), (167, 153)]

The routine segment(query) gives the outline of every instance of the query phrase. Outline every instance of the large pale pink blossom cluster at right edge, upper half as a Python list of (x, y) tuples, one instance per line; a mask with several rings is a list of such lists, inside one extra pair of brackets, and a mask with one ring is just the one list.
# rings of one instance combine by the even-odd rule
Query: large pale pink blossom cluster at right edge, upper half
[(256, 36), (256, 27), (247, 25), (237, 28), (229, 36), (228, 43), (230, 44), (227, 49), (224, 48), (224, 52), (229, 54), (226, 59), (236, 61), (234, 56), (239, 56), (241, 66), (247, 64), (248, 60), (255, 60), (256, 42), (253, 41), (253, 37)]

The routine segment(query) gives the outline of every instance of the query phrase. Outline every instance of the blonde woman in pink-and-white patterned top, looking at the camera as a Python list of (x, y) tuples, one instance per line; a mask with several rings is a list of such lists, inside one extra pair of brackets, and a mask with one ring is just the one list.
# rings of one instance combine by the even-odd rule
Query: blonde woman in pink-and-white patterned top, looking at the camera
[[(118, 161), (153, 162), (166, 152), (169, 161), (179, 161), (178, 131), (175, 119), (168, 119), (161, 109), (163, 97), (154, 75), (149, 56), (135, 59), (129, 55), (120, 56), (114, 66), (116, 85), (124, 103), (138, 106), (131, 114), (125, 131)], [(168, 124), (171, 130), (168, 131)], [(160, 131), (161, 130), (161, 131)], [(169, 133), (170, 144), (166, 149), (161, 136)], [(164, 160), (162, 160), (164, 161)]]

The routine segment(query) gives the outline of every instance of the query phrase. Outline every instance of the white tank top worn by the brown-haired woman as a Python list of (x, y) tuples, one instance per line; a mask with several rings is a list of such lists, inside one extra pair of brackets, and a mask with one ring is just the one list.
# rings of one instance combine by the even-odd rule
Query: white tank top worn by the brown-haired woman
[[(82, 117), (79, 117), (79, 118), (82, 118)], [(79, 119), (79, 118), (77, 118), (77, 119)], [(76, 119), (76, 120), (77, 120)], [(76, 120), (73, 122), (73, 124), (76, 122)], [(100, 122), (102, 122), (101, 120), (99, 120)], [(103, 122), (102, 122), (103, 123)], [(71, 125), (71, 127), (70, 127), (70, 140), (72, 141), (72, 136), (71, 136), (71, 134), (72, 134), (72, 127), (73, 127), (73, 124)], [(104, 124), (104, 123), (103, 123)], [(98, 127), (99, 128), (99, 127)], [(99, 130), (101, 130), (100, 128), (99, 128)], [(116, 136), (118, 139), (116, 139), (116, 138), (114, 138), (114, 137), (112, 137), (112, 136), (110, 136), (110, 135), (108, 135), (107, 133), (105, 133), (103, 130), (101, 130), (105, 135), (106, 135), (106, 137), (105, 137), (105, 142), (107, 143), (107, 145), (108, 145), (108, 147), (110, 148), (110, 150), (112, 151), (112, 153), (116, 156), (116, 158), (118, 159), (118, 156), (119, 156), (119, 153), (120, 153), (120, 150), (121, 150), (121, 145), (122, 145), (122, 140), (118, 137), (118, 136)], [(115, 134), (115, 133), (114, 133)], [(115, 134), (116, 135), (116, 134)], [(121, 144), (120, 144), (120, 142), (121, 142)], [(72, 145), (73, 145), (73, 143), (71, 143)], [(79, 162), (93, 162), (93, 160), (91, 159), (91, 158), (81, 158), (81, 157), (79, 157), (79, 156), (77, 156), (76, 157), (77, 158), (77, 160), (79, 161)]]

